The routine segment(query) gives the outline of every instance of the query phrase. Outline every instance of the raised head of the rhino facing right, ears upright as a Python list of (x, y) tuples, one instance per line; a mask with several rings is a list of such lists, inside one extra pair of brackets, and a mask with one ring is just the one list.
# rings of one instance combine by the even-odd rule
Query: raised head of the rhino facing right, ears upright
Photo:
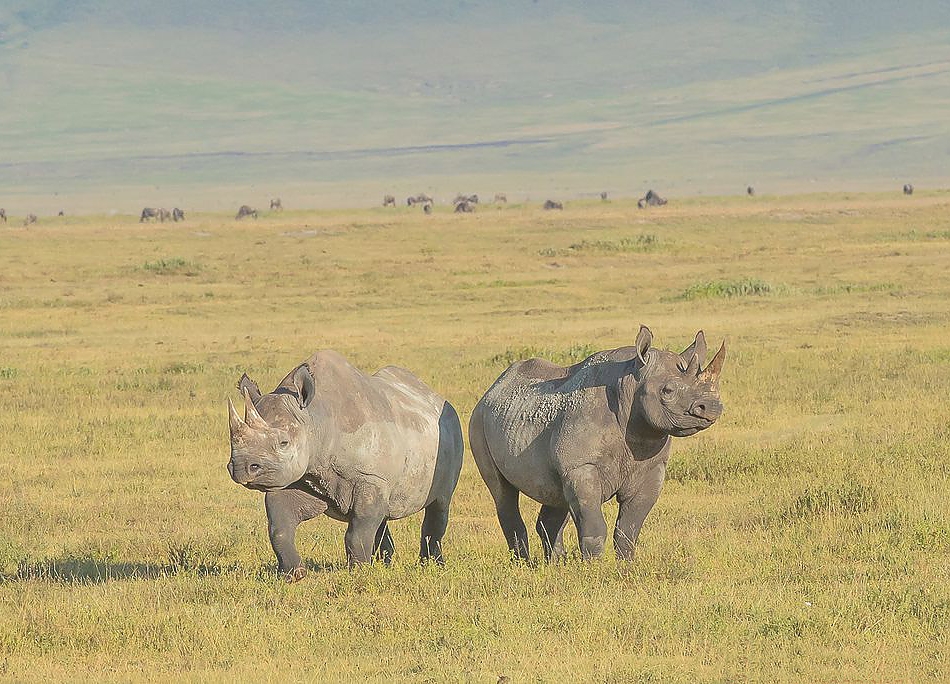
[(681, 353), (652, 349), (653, 333), (640, 326), (637, 358), (643, 364), (637, 377), (633, 413), (649, 428), (674, 437), (705, 430), (722, 415), (719, 373), (726, 360), (726, 343), (705, 368), (706, 338), (696, 333)]

